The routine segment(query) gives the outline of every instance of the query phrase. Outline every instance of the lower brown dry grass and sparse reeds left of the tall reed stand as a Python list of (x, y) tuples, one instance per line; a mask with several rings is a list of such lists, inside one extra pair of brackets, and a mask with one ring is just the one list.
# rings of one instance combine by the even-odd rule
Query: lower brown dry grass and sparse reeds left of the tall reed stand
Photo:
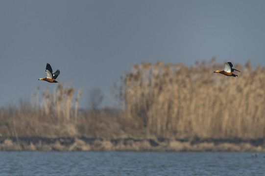
[(31, 101), (22, 99), (18, 105), (1, 107), (0, 136), (126, 137), (125, 131), (134, 122), (126, 120), (120, 110), (79, 109), (82, 91), (74, 89), (67, 84), (56, 85), (53, 92), (37, 88)]

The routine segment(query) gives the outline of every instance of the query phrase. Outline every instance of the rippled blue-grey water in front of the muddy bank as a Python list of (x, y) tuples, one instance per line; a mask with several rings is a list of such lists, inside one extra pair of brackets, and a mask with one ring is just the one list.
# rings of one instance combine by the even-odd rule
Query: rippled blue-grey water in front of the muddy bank
[(0, 176), (265, 176), (265, 153), (0, 152)]

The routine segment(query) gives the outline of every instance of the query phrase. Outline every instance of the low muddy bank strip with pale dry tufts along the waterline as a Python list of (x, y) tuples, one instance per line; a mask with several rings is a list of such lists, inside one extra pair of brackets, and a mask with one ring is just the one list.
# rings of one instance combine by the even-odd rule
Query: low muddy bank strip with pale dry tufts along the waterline
[(265, 152), (265, 140), (0, 137), (0, 151)]

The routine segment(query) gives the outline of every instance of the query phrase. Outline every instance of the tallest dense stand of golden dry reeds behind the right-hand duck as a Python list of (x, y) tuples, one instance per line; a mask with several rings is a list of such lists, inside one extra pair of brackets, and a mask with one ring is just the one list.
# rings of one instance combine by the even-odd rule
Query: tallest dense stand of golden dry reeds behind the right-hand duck
[(141, 63), (124, 78), (128, 118), (142, 120), (146, 134), (177, 138), (265, 137), (265, 67), (238, 77), (213, 73), (223, 64)]

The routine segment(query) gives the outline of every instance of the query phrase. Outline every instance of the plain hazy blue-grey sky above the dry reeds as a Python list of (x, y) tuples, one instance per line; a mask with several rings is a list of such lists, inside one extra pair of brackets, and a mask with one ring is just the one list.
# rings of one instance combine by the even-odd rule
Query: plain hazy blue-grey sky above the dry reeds
[(29, 99), (46, 76), (108, 91), (133, 64), (265, 66), (265, 0), (0, 0), (0, 106)]

